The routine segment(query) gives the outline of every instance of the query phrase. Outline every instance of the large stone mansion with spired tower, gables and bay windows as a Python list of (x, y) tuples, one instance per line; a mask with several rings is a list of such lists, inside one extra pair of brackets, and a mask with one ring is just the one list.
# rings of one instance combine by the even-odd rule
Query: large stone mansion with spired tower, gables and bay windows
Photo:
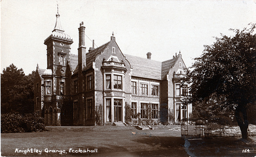
[[(69, 100), (68, 125), (113, 125), (125, 122), (125, 105), (132, 118), (147, 119), (148, 106), (154, 121), (180, 122), (188, 118), (192, 105), (183, 105), (188, 85), (181, 85), (186, 72), (182, 55), (159, 62), (123, 54), (114, 33), (109, 42), (88, 51), (83, 22), (78, 28), (78, 55), (71, 54), (72, 38), (60, 25), (45, 39), (47, 69), (37, 65), (34, 81), (34, 112), (45, 118), (48, 126), (63, 125), (60, 100)], [(125, 53), (125, 52), (124, 52)], [(66, 117), (67, 119), (67, 117)]]

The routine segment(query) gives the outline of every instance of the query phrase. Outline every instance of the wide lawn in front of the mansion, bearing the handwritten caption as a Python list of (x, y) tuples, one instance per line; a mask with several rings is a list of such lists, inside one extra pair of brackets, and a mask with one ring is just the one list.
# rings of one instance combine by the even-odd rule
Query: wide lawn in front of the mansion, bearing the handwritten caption
[[(184, 141), (180, 131), (170, 131), (170, 127), (175, 126), (155, 130), (117, 126), (48, 127), (50, 131), (45, 132), (2, 133), (1, 152), (2, 156), (256, 155), (253, 141), (245, 143), (238, 138)], [(25, 154), (31, 148), (38, 152)], [(245, 149), (250, 152), (242, 152)]]

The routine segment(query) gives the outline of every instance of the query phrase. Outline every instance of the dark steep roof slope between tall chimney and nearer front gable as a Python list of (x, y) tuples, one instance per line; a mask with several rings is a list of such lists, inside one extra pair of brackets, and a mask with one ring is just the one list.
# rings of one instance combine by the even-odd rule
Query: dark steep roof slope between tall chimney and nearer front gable
[(109, 43), (110, 43), (110, 41), (107, 42), (107, 43), (105, 43), (105, 44), (103, 44), (103, 45), (100, 46), (99, 48), (97, 48), (97, 49), (95, 49), (95, 50), (92, 50), (92, 51), (90, 51), (90, 52), (88, 52), (88, 53), (86, 54), (86, 70), (92, 68), (92, 66), (93, 66), (92, 61), (94, 61), (95, 58), (96, 58), (101, 52), (103, 52), (103, 51), (105, 50), (105, 48), (108, 46)]

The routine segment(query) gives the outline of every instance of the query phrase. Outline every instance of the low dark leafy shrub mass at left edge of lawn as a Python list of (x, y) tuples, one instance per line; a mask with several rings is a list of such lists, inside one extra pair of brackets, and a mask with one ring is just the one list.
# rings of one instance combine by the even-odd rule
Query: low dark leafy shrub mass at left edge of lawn
[(36, 114), (1, 115), (1, 133), (34, 132), (45, 129), (44, 119)]

